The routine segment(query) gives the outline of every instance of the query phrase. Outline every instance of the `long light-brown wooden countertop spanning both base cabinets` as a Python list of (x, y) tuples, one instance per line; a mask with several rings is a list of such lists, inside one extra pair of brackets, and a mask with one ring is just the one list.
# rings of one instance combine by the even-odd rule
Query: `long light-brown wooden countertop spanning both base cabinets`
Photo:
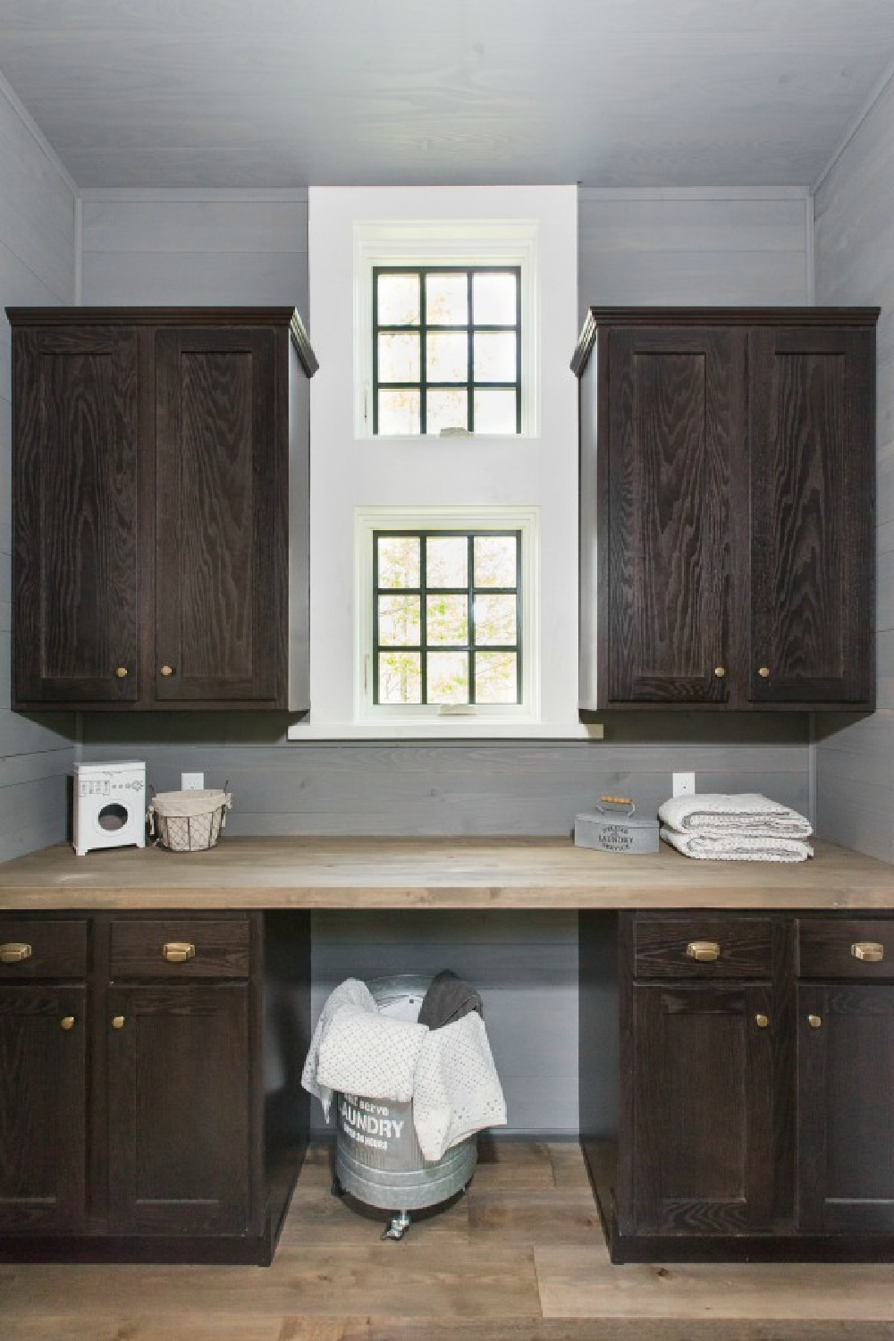
[(562, 838), (221, 838), (204, 853), (67, 845), (0, 865), (0, 909), (894, 909), (894, 866), (832, 843), (799, 864), (649, 857)]

